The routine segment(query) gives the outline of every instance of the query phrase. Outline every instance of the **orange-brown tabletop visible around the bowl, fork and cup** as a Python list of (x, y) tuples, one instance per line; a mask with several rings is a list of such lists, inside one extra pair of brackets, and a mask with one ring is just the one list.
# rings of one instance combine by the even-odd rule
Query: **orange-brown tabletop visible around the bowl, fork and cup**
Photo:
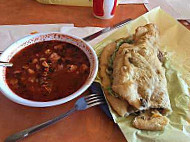
[[(146, 13), (144, 5), (119, 5), (111, 20), (100, 20), (90, 7), (43, 5), (35, 0), (1, 0), (0, 25), (74, 23), (75, 26), (106, 27), (126, 18)], [(183, 21), (182, 21), (183, 23)], [(187, 26), (190, 29), (190, 26)], [(0, 94), (0, 141), (8, 135), (66, 112), (75, 100), (49, 108), (30, 108), (15, 104)], [(72, 116), (36, 133), (23, 142), (124, 142), (118, 126), (99, 107), (74, 113)]]

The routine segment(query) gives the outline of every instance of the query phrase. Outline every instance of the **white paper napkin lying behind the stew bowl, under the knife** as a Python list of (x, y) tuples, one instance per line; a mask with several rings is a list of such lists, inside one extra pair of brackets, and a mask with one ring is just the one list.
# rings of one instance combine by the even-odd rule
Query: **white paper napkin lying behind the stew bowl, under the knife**
[[(74, 35), (78, 37), (86, 37), (93, 34), (102, 28), (100, 27), (74, 27), (74, 24), (34, 24), (34, 25), (5, 25), (0, 26), (0, 51), (4, 51), (15, 41), (30, 35), (32, 32), (62, 32), (68, 35)], [(105, 33), (89, 44), (94, 46), (102, 39), (110, 35), (113, 31)]]

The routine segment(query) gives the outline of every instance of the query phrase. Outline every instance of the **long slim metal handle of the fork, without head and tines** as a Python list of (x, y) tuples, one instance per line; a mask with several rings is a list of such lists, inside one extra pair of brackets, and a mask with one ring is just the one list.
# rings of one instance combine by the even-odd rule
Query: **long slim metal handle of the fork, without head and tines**
[(20, 131), (18, 133), (12, 134), (12, 135), (8, 136), (4, 142), (16, 142), (17, 140), (28, 137), (29, 135), (31, 135), (31, 134), (33, 134), (33, 133), (35, 133), (35, 132), (37, 132), (43, 128), (46, 128), (47, 126), (50, 126), (50, 125), (58, 122), (59, 120), (67, 117), (68, 115), (72, 114), (75, 111), (76, 111), (76, 108), (74, 107), (71, 110), (69, 110), (68, 112), (61, 114), (61, 115), (55, 117), (54, 119), (48, 120), (48, 121), (41, 123), (39, 125), (25, 129), (25, 130)]

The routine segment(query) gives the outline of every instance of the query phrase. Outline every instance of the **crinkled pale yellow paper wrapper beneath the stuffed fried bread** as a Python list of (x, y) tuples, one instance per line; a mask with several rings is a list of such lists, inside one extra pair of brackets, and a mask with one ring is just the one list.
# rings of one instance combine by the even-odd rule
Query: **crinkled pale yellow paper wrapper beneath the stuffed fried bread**
[[(169, 125), (164, 131), (138, 130), (131, 125), (132, 116), (119, 117), (111, 108), (111, 114), (128, 142), (190, 142), (190, 31), (159, 7), (142, 15), (95, 45), (100, 56), (110, 42), (133, 34), (138, 26), (154, 23), (160, 31), (161, 50), (169, 54), (165, 63), (168, 92), (173, 113), (168, 116)], [(97, 80), (100, 79), (97, 76)], [(101, 82), (101, 81), (100, 81)]]

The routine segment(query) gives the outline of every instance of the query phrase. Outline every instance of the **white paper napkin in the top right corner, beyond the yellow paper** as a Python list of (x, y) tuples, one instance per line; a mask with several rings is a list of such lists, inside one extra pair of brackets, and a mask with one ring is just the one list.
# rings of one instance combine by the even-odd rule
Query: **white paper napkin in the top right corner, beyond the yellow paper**
[(145, 6), (149, 11), (160, 6), (176, 19), (190, 20), (190, 0), (150, 0)]

